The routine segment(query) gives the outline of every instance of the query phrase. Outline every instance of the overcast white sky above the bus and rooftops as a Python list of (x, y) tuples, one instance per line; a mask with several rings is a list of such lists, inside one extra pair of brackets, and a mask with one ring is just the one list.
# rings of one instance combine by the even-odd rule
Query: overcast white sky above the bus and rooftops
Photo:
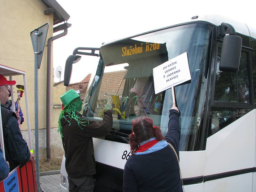
[[(220, 14), (256, 28), (256, 1), (230, 0), (164, 1), (164, 0), (57, 0), (70, 15), (68, 34), (53, 42), (54, 76), (61, 66), (64, 77), (65, 62), (76, 47), (100, 47), (103, 42), (124, 38), (153, 29), (167, 27), (194, 15)], [(57, 33), (54, 33), (54, 36)], [(82, 56), (73, 64), (70, 83), (80, 82), (95, 70), (98, 58)], [(54, 77), (54, 81), (60, 79)]]

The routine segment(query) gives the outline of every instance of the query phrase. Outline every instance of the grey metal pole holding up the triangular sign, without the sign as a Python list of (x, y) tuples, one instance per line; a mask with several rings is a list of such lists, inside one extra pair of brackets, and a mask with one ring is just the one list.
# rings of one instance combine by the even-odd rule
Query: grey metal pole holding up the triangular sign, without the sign
[(39, 176), (39, 142), (38, 142), (38, 29), (35, 29), (35, 139), (36, 139), (36, 188), (40, 188)]

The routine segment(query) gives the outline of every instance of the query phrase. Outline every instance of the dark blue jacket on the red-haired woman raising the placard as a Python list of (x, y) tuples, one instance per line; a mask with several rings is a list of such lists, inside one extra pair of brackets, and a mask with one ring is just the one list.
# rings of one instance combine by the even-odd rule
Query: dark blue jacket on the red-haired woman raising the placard
[[(179, 113), (175, 109), (170, 110), (165, 139), (173, 145), (179, 156)], [(135, 153), (128, 158), (124, 166), (124, 192), (182, 191), (179, 164), (166, 141), (159, 141), (147, 151)]]

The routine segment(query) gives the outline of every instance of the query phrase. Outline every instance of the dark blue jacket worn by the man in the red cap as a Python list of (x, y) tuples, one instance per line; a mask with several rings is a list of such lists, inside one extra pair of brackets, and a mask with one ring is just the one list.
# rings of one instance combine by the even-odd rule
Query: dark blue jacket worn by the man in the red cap
[(30, 158), (27, 142), (20, 132), (17, 116), (14, 112), (1, 106), (2, 124), (4, 132), (5, 159), (12, 171), (19, 164), (26, 164)]

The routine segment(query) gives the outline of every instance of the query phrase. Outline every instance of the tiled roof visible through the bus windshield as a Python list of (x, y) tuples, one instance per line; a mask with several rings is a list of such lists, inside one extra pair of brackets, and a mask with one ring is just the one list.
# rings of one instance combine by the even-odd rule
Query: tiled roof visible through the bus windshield
[(125, 74), (126, 74), (126, 70), (105, 72), (102, 77), (98, 99), (106, 99), (107, 98), (106, 95), (123, 94)]

